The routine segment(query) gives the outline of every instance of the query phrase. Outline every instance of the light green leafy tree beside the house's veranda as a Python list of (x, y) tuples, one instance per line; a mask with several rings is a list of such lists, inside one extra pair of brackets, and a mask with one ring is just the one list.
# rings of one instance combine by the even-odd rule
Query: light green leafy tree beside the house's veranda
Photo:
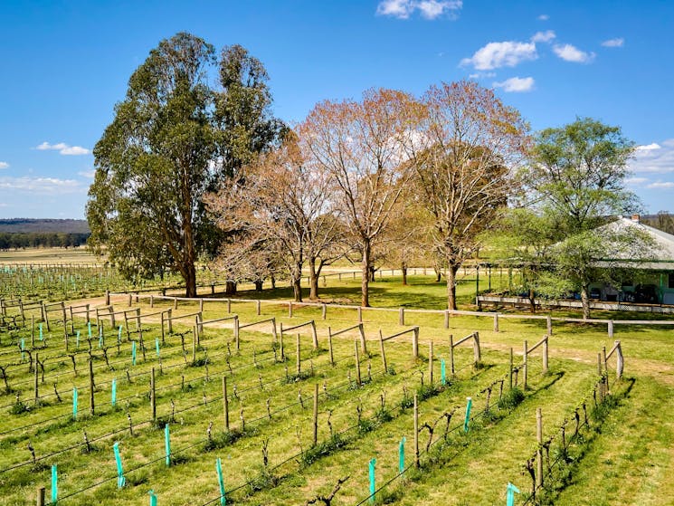
[[(511, 232), (520, 242), (520, 256), (534, 265), (530, 289), (549, 296), (558, 296), (563, 287), (580, 291), (584, 318), (590, 316), (590, 283), (611, 282), (615, 259), (650, 255), (644, 234), (608, 225), (611, 215), (637, 208), (636, 196), (625, 189), (633, 151), (634, 143), (619, 127), (576, 119), (541, 131), (521, 173), (534, 212)], [(533, 257), (527, 257), (524, 244)], [(543, 264), (554, 269), (541, 269)]]

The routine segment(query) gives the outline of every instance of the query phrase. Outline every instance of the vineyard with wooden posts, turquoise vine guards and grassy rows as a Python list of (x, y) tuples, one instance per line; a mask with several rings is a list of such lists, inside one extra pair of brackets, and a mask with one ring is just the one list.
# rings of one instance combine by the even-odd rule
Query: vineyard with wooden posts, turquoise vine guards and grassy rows
[[(672, 390), (652, 352), (672, 358), (670, 330), (620, 327), (616, 345), (602, 325), (550, 334), (545, 319), (441, 311), (157, 292), (5, 302), (6, 504), (41, 488), (73, 505), (594, 504), (575, 476), (603, 486), (587, 463), (616, 444), (612, 417), (625, 429), (646, 402), (635, 392)], [(668, 486), (671, 423), (659, 431), (661, 461), (628, 493)]]

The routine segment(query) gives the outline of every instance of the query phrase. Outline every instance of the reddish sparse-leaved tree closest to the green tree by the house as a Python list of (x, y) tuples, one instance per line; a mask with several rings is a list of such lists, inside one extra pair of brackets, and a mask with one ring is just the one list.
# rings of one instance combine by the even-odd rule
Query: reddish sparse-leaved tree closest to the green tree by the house
[(422, 104), (425, 118), (406, 146), (432, 249), (446, 267), (447, 307), (456, 309), (456, 272), (515, 193), (513, 167), (526, 152), (528, 126), (472, 81), (433, 86)]

